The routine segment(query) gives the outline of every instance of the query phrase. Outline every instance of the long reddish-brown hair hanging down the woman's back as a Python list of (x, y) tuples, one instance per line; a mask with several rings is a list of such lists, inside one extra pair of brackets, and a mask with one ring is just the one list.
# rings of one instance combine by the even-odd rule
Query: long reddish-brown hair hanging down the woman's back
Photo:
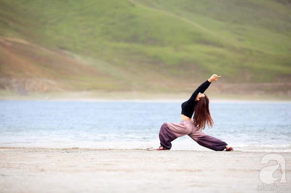
[(206, 125), (210, 128), (213, 126), (213, 120), (209, 110), (209, 99), (206, 95), (205, 97), (200, 97), (194, 107), (194, 112), (194, 124), (199, 129), (204, 129)]

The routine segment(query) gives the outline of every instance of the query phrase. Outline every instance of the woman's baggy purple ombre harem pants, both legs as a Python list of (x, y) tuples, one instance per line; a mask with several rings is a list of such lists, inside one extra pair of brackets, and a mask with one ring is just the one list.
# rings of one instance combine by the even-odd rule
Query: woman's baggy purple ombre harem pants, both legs
[(200, 146), (210, 148), (215, 151), (223, 151), (227, 144), (226, 142), (207, 135), (194, 125), (193, 121), (183, 120), (180, 123), (166, 122), (162, 124), (159, 138), (163, 148), (172, 148), (171, 141), (180, 136), (189, 135)]

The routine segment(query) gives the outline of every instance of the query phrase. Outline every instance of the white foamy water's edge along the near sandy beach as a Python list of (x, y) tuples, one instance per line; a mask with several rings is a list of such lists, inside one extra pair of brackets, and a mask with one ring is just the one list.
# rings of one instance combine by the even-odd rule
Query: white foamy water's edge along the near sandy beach
[[(159, 140), (123, 141), (123, 142), (36, 142), (36, 143), (0, 143), (0, 147), (30, 147), (30, 148), (93, 148), (93, 149), (146, 149), (159, 148)], [(235, 150), (259, 152), (291, 152), (291, 144), (232, 144)], [(175, 140), (171, 150), (211, 151), (194, 141)]]

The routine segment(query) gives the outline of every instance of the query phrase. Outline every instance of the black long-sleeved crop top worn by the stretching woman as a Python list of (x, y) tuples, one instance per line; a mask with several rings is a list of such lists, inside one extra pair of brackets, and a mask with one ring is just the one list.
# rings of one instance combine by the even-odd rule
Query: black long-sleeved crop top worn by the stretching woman
[(197, 94), (199, 94), (199, 92), (203, 93), (210, 85), (211, 83), (206, 80), (204, 83), (202, 83), (191, 95), (190, 99), (188, 101), (185, 101), (184, 103), (182, 103), (181, 107), (182, 107), (182, 115), (185, 115), (187, 117), (189, 117), (190, 119), (193, 116), (194, 113), (194, 106), (197, 103), (197, 101), (195, 101)]

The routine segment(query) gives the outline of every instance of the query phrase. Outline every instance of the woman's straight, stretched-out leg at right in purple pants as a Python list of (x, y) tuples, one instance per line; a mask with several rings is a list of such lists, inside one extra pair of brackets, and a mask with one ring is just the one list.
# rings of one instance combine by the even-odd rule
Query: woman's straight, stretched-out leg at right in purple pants
[(200, 129), (192, 134), (188, 134), (195, 142), (205, 148), (210, 148), (214, 151), (223, 151), (227, 144), (226, 142), (203, 133)]

